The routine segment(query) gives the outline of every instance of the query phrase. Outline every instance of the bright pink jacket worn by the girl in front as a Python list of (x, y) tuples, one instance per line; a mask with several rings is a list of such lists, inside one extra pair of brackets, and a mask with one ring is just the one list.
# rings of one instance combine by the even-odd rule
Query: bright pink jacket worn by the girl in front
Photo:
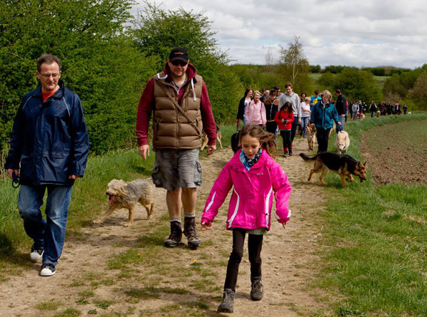
[(201, 214), (201, 222), (214, 221), (231, 187), (228, 206), (227, 229), (270, 230), (273, 196), (276, 202), (275, 218), (278, 222), (288, 222), (290, 218), (289, 197), (292, 188), (282, 167), (263, 150), (258, 162), (246, 170), (239, 159), (242, 150), (223, 167), (211, 189)]

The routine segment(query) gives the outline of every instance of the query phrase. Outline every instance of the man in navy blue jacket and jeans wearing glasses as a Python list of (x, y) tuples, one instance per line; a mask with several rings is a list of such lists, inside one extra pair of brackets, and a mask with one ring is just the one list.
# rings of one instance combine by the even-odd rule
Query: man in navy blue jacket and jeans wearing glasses
[(38, 58), (36, 75), (40, 84), (23, 97), (15, 117), (5, 168), (9, 177), (20, 177), (18, 209), (34, 241), (31, 259), (43, 257), (40, 274), (51, 276), (63, 250), (71, 188), (85, 173), (89, 137), (80, 98), (59, 80), (58, 57)]

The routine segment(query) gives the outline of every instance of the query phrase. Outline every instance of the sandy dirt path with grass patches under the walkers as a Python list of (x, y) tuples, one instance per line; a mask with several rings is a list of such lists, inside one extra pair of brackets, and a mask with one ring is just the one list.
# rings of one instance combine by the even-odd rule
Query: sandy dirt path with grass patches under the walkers
[[(249, 298), (245, 250), (233, 316), (311, 316), (322, 308), (307, 286), (317, 271), (317, 239), (322, 234), (318, 214), (325, 200), (317, 180), (307, 183), (309, 167), (297, 155), (307, 152), (305, 140), (295, 139), (294, 152), (292, 157), (277, 158), (292, 185), (292, 218), (285, 230), (272, 221), (271, 233), (264, 239), (265, 296), (260, 302)], [(231, 155), (227, 148), (201, 159), (204, 185), (198, 212)], [(199, 249), (190, 251), (186, 246), (162, 246), (167, 236), (164, 197), (164, 190), (157, 189), (156, 212), (149, 221), (141, 208), (134, 226), (125, 228), (127, 212), (117, 212), (104, 224), (68, 237), (56, 275), (42, 278), (40, 264), (34, 264), (21, 276), (11, 276), (0, 284), (0, 316), (79, 316), (78, 312), (80, 316), (223, 316), (216, 307), (231, 251), (231, 234), (225, 230), (228, 199), (213, 229), (199, 232)], [(116, 259), (118, 266), (112, 264)]]

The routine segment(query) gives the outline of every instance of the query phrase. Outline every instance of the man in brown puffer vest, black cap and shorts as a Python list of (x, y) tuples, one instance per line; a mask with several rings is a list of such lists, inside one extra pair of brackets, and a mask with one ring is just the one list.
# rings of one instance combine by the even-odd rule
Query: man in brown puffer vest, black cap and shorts
[(208, 155), (216, 150), (216, 124), (208, 90), (184, 48), (174, 48), (162, 73), (147, 83), (139, 100), (137, 140), (139, 155), (149, 155), (148, 128), (153, 113), (153, 148), (156, 152), (152, 180), (167, 189), (171, 234), (167, 247), (181, 244), (181, 207), (184, 207), (184, 234), (188, 246), (196, 249), (197, 187), (201, 185), (199, 149), (201, 130), (208, 135)]

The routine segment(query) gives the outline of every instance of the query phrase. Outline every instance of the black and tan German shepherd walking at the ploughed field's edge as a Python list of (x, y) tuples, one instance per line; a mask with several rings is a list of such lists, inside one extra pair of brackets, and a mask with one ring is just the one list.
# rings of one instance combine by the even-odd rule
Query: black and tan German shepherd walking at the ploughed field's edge
[(346, 181), (354, 181), (352, 175), (358, 176), (360, 182), (367, 180), (367, 162), (362, 164), (361, 162), (354, 160), (354, 158), (349, 155), (341, 155), (332, 152), (321, 152), (314, 157), (308, 157), (304, 153), (300, 153), (300, 157), (302, 157), (302, 160), (305, 160), (305, 162), (315, 162), (315, 166), (312, 170), (310, 170), (310, 175), (308, 176), (309, 182), (314, 173), (322, 172), (322, 174), (320, 174), (319, 180), (323, 185), (326, 185), (323, 177), (325, 177), (327, 172), (330, 170), (339, 175), (341, 178), (342, 187), (344, 188), (346, 187)]

